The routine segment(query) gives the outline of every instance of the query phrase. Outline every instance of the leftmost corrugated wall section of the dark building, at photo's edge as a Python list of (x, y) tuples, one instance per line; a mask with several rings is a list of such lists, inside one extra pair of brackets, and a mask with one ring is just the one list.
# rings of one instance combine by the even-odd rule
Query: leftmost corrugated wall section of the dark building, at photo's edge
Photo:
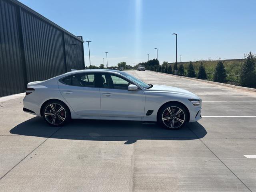
[(17, 8), (0, 0), (0, 96), (24, 91)]

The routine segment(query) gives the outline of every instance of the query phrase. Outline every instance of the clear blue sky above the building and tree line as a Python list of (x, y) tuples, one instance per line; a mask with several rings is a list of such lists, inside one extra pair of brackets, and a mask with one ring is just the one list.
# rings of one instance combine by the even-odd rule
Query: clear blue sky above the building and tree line
[[(256, 53), (255, 0), (20, 0), (76, 36), (90, 40), (91, 64), (129, 65), (244, 58)], [(85, 65), (89, 66), (84, 42)]]

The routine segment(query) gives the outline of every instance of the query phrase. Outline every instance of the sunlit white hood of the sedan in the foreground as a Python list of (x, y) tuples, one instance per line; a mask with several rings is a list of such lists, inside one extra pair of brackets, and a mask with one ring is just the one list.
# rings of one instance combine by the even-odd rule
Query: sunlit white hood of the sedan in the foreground
[(152, 92), (168, 92), (168, 93), (198, 97), (196, 94), (189, 92), (187, 90), (184, 90), (178, 87), (171, 87), (171, 86), (164, 86), (164, 85), (153, 85), (153, 87), (148, 90)]

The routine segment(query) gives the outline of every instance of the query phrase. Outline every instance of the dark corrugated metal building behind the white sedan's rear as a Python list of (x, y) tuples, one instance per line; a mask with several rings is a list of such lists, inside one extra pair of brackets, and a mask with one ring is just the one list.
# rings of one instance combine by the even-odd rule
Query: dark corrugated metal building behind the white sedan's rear
[(17, 0), (0, 0), (0, 96), (84, 69), (84, 41)]

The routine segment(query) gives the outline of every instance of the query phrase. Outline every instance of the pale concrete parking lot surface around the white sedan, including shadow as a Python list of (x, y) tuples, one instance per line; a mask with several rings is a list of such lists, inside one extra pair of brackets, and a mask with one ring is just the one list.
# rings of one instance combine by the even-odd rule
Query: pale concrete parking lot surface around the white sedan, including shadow
[(152, 71), (150, 84), (202, 98), (180, 130), (153, 122), (72, 120), (48, 126), (22, 111), (24, 94), (0, 98), (0, 191), (256, 191), (256, 93)]

